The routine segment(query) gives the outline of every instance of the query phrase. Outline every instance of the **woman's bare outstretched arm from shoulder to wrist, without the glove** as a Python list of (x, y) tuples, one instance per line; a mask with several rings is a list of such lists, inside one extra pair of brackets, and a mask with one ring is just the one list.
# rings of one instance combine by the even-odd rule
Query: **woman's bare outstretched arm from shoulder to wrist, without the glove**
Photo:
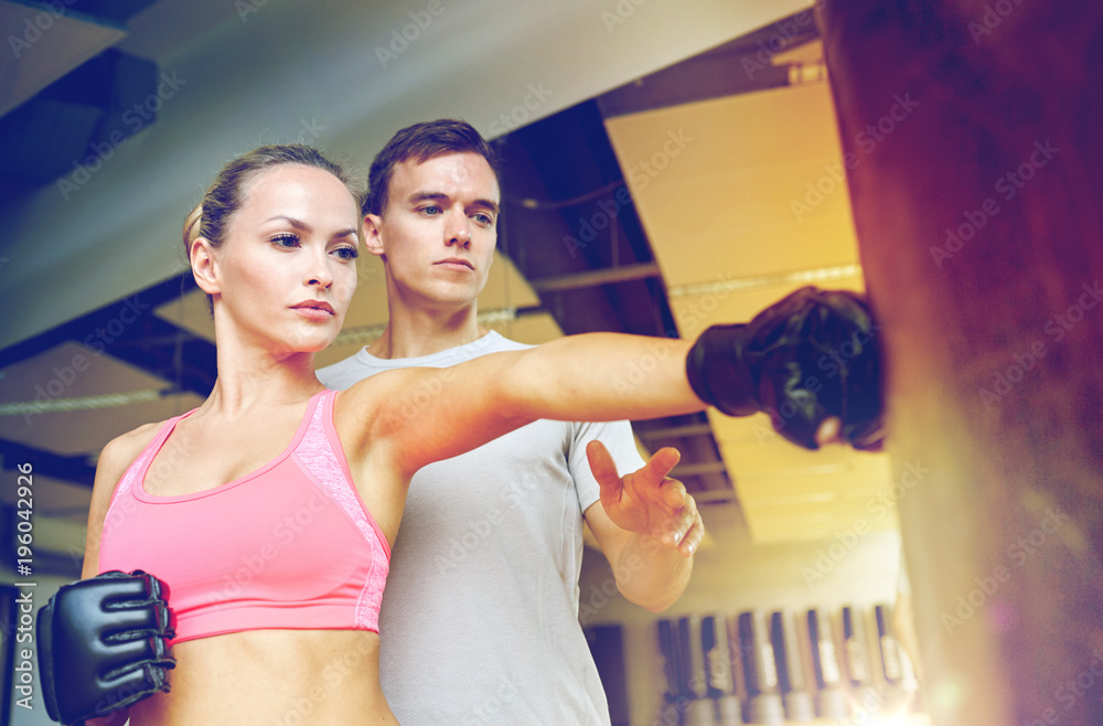
[[(621, 333), (570, 335), (449, 369), (372, 376), (346, 394), (363, 403), (364, 439), (409, 474), (539, 418), (643, 419), (705, 408), (686, 378), (692, 341)], [(346, 404), (347, 405), (347, 404)]]

